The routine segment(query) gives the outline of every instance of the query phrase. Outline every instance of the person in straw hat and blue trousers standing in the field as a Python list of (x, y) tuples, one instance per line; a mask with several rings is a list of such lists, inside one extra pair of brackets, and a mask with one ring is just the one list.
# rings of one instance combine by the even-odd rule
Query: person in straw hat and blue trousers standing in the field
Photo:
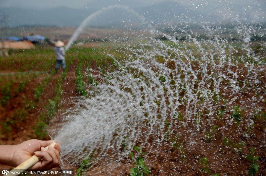
[(60, 64), (62, 64), (64, 70), (66, 69), (64, 42), (58, 40), (55, 43), (54, 50), (56, 52), (56, 73), (57, 73)]

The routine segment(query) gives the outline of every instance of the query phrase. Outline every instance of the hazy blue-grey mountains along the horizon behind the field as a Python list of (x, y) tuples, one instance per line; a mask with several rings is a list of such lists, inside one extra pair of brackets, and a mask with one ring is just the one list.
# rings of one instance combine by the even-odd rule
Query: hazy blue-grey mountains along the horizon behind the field
[[(79, 26), (80, 23), (90, 14), (98, 11), (104, 6), (117, 4), (117, 0), (92, 0), (81, 9), (56, 7), (49, 9), (25, 9), (19, 7), (0, 8), (0, 16), (5, 12), (9, 16), (10, 27), (21, 25), (53, 25), (61, 27)], [(217, 7), (213, 9), (211, 5), (199, 8), (191, 8), (176, 3), (175, 1), (164, 1), (150, 5), (140, 4), (136, 0), (121, 1), (121, 5), (129, 6), (139, 14), (143, 15), (148, 22), (153, 25), (176, 24), (176, 23), (199, 23), (202, 21), (230, 22), (235, 18), (233, 11), (230, 13), (222, 11)], [(221, 6), (222, 7), (222, 6)], [(241, 6), (237, 8), (243, 10), (238, 15), (242, 15), (246, 20), (251, 21), (253, 11), (245, 11)], [(253, 8), (254, 10), (254, 8)], [(256, 11), (254, 11), (256, 12)], [(254, 14), (253, 14), (254, 15)], [(96, 16), (90, 23), (92, 27), (110, 26), (133, 26), (136, 27), (140, 20), (125, 10), (113, 9)]]

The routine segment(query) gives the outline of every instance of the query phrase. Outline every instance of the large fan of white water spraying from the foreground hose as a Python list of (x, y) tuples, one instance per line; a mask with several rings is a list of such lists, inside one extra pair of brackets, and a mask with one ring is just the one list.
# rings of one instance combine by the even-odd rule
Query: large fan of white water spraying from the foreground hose
[[(158, 31), (151, 32), (155, 36), (161, 34)], [(215, 120), (219, 105), (215, 104), (213, 95), (216, 95), (218, 101), (225, 99), (225, 96), (229, 97), (224, 106), (233, 109), (240, 89), (247, 90), (251, 85), (239, 87), (236, 81), (244, 69), (249, 70), (249, 76), (243, 76), (243, 82), (253, 80), (258, 82), (257, 85), (263, 84), (258, 79), (258, 73), (263, 70), (264, 63), (251, 52), (242, 56), (243, 61), (247, 60), (245, 65), (232, 71), (237, 58), (226, 58), (226, 54), (222, 52), (228, 46), (227, 41), (217, 39), (203, 42), (190, 36), (186, 46), (179, 45), (180, 41), (175, 37), (164, 35), (173, 45), (145, 38), (145, 43), (132, 42), (131, 46), (118, 47), (117, 52), (124, 51), (123, 57), (126, 58), (116, 60), (119, 69), (107, 71), (105, 76), (101, 76), (103, 73), (100, 70), (100, 74), (93, 77), (100, 77), (102, 83), (87, 89), (90, 98), (79, 98), (74, 107), (62, 114), (63, 117), (51, 121), (52, 138), (62, 142), (63, 165), (71, 163), (78, 166), (82, 160), (93, 155), (90, 171), (97, 170), (95, 165), (100, 162), (106, 164), (111, 172), (113, 167), (108, 167), (108, 164), (121, 164), (119, 161), (133, 150), (137, 139), (143, 139), (139, 147), (149, 148), (147, 154), (160, 146), (165, 140), (163, 131), (166, 120), (171, 119), (169, 124), (176, 124), (179, 114), (186, 119), (179, 122), (180, 128), (190, 131), (185, 136), (185, 142), (194, 145), (196, 142), (192, 139), (197, 137), (198, 131), (206, 130), (201, 128), (201, 112), (209, 112), (206, 125)], [(193, 55), (190, 45), (196, 48), (201, 57)], [(146, 49), (147, 47), (153, 49)], [(249, 45), (243, 48), (250, 50)], [(237, 48), (232, 46), (229, 50), (233, 53)], [(111, 53), (108, 56), (115, 59)], [(158, 62), (157, 58), (163, 58), (163, 62)], [(254, 62), (249, 62), (250, 58), (261, 67), (255, 69)], [(197, 69), (194, 63), (197, 63)], [(92, 71), (91, 68), (86, 74)], [(222, 81), (230, 84), (225, 86)], [(210, 82), (213, 82), (212, 89), (206, 87)], [(253, 89), (260, 91), (259, 86)], [(220, 94), (225, 91), (227, 94)], [(253, 108), (259, 110), (258, 105), (263, 99), (254, 96), (249, 101)], [(180, 106), (184, 107), (182, 111), (179, 110)], [(241, 106), (249, 108), (245, 104)], [(249, 115), (252, 117), (251, 111)], [(233, 122), (228, 122), (228, 126), (232, 124)], [(145, 133), (142, 129), (145, 129)], [(152, 143), (148, 142), (150, 136), (155, 136)], [(123, 150), (120, 150), (121, 144), (124, 144)]]

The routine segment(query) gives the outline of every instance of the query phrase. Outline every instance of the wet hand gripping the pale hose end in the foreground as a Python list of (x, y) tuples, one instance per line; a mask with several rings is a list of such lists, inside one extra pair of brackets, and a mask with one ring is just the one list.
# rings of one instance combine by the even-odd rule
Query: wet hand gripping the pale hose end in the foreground
[(50, 170), (60, 165), (60, 147), (59, 144), (53, 147), (49, 146), (48, 149), (45, 147), (50, 145), (53, 141), (40, 141), (37, 139), (31, 139), (21, 144), (12, 146), (13, 156), (11, 159), (11, 166), (18, 166), (22, 162), (26, 161), (34, 154), (37, 157), (43, 159), (34, 164), (30, 169), (36, 170)]

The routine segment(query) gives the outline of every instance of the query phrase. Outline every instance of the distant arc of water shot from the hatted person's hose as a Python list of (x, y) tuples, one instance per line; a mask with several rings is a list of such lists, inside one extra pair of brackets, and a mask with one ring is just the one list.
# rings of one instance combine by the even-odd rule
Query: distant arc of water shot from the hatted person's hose
[(72, 43), (78, 38), (78, 36), (80, 35), (80, 33), (83, 31), (83, 29), (92, 21), (92, 19), (94, 19), (95, 17), (97, 17), (98, 15), (102, 14), (103, 12), (107, 12), (111, 9), (125, 9), (127, 10), (129, 13), (132, 13), (134, 15), (136, 15), (137, 17), (139, 17), (141, 24), (143, 24), (146, 20), (145, 18), (137, 13), (136, 11), (134, 11), (133, 9), (129, 8), (128, 6), (122, 6), (122, 5), (111, 5), (108, 7), (103, 7), (102, 9), (98, 10), (97, 12), (94, 12), (93, 14), (91, 14), (90, 16), (88, 16), (86, 19), (84, 19), (81, 23), (81, 25), (78, 27), (78, 29), (76, 30), (76, 32), (74, 32), (74, 34), (71, 36), (69, 42), (66, 45), (66, 50), (68, 50), (68, 48), (72, 45)]

